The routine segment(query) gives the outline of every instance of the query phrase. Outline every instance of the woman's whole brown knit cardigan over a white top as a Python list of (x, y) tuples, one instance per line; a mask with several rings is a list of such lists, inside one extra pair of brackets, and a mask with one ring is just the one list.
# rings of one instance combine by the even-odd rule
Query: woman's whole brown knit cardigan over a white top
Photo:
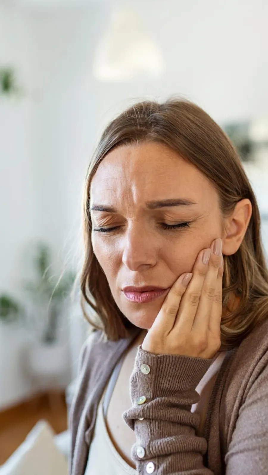
[[(85, 473), (98, 402), (116, 362), (139, 332), (134, 328), (128, 338), (111, 342), (94, 331), (82, 348), (68, 420), (70, 475)], [(139, 475), (268, 473), (268, 319), (226, 352), (203, 437), (198, 437), (200, 415), (191, 412), (191, 405), (200, 398), (195, 388), (212, 361), (156, 355), (138, 347), (130, 377), (132, 407), (122, 417), (136, 435), (131, 456)], [(149, 373), (141, 371), (142, 364), (149, 366)], [(137, 404), (141, 396), (146, 400)], [(142, 458), (137, 447), (144, 448)]]

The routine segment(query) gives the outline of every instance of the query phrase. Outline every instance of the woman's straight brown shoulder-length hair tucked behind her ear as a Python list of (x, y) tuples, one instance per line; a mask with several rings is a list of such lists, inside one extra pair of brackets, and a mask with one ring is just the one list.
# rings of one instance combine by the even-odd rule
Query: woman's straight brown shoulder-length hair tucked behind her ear
[[(121, 145), (144, 141), (161, 142), (197, 167), (218, 191), (222, 219), (241, 199), (251, 201), (252, 215), (243, 241), (235, 254), (224, 256), (222, 306), (230, 310), (232, 294), (239, 296), (240, 302), (234, 311), (222, 317), (221, 349), (233, 348), (268, 313), (268, 268), (260, 236), (258, 205), (239, 155), (227, 135), (200, 107), (177, 98), (163, 104), (144, 101), (132, 105), (107, 125), (96, 147), (86, 175), (83, 199), (85, 259), (80, 276), (83, 314), (95, 328), (104, 331), (108, 340), (127, 337), (129, 329), (134, 327), (115, 304), (93, 253), (90, 185), (108, 152)], [(98, 323), (87, 315), (85, 303), (96, 312)]]

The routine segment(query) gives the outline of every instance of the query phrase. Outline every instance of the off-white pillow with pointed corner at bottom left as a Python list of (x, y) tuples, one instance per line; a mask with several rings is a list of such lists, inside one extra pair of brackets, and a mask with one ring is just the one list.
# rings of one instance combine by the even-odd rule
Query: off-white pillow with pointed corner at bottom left
[(46, 420), (39, 420), (24, 442), (0, 467), (0, 475), (67, 475), (68, 463)]

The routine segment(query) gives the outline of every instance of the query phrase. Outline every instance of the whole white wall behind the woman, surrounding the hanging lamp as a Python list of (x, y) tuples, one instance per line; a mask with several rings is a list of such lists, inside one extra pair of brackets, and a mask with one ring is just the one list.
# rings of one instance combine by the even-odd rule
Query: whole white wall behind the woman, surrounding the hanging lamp
[[(265, 0), (136, 1), (166, 73), (113, 85), (91, 73), (113, 2), (33, 4), (0, 7), (0, 64), (14, 64), (28, 90), (18, 104), (0, 98), (0, 287), (15, 293), (29, 238), (43, 237), (57, 257), (79, 257), (87, 163), (104, 125), (130, 100), (180, 94), (218, 122), (268, 114)], [(10, 385), (0, 406), (28, 390)]]

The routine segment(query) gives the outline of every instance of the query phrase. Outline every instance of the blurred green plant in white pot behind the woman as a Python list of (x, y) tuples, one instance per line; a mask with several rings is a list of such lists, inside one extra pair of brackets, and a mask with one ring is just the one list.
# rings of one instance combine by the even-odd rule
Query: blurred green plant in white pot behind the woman
[(59, 376), (68, 369), (67, 344), (62, 344), (58, 338), (59, 323), (75, 274), (66, 271), (59, 279), (52, 276), (51, 252), (45, 243), (38, 243), (33, 264), (36, 278), (24, 283), (32, 306), (27, 320), (35, 334), (35, 341), (29, 348), (29, 367), (32, 373), (41, 377)]

